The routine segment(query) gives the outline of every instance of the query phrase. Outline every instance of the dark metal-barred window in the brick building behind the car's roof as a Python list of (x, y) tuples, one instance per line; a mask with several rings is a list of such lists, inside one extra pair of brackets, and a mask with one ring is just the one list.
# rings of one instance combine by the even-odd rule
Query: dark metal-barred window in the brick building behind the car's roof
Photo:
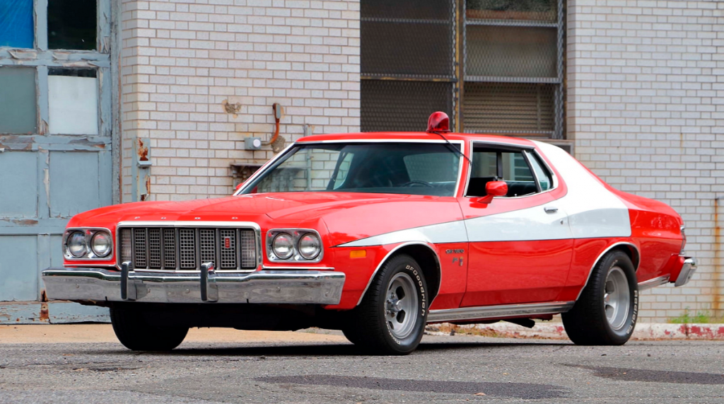
[(563, 17), (563, 0), (362, 0), (362, 130), (445, 111), (463, 132), (562, 139)]

